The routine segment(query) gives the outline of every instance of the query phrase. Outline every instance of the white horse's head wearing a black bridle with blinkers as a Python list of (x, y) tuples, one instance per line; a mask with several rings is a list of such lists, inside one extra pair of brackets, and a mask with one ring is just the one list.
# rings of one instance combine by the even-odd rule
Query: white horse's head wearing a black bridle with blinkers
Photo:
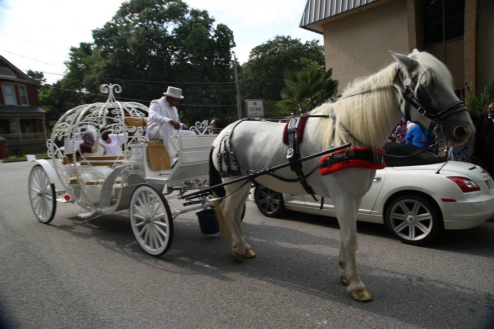
[(402, 98), (405, 117), (427, 127), (447, 145), (465, 143), (475, 128), (465, 104), (454, 94), (446, 65), (417, 49), (409, 56), (391, 54), (400, 65), (393, 86)]

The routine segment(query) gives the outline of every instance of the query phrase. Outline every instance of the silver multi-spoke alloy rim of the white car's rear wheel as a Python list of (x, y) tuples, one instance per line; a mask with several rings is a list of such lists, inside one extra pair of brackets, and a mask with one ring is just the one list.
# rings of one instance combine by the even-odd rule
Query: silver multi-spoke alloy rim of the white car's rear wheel
[(432, 230), (432, 214), (417, 200), (401, 200), (393, 206), (390, 213), (393, 231), (405, 240), (424, 239)]

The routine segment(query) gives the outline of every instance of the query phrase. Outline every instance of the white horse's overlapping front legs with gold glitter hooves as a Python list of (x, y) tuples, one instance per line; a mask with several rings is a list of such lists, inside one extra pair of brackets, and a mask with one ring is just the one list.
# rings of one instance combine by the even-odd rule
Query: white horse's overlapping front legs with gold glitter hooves
[(371, 301), (371, 295), (360, 280), (355, 256), (357, 252), (357, 207), (360, 199), (350, 194), (338, 193), (333, 200), (341, 230), (341, 249), (338, 258), (338, 264), (342, 268), (340, 280), (343, 283), (349, 283), (347, 290), (352, 298), (359, 302)]

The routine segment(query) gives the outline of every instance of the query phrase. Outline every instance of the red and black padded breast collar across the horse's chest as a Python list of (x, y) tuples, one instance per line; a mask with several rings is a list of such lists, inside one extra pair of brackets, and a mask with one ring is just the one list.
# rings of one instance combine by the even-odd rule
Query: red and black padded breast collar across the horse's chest
[(319, 174), (330, 175), (339, 170), (348, 168), (383, 169), (386, 163), (383, 160), (384, 149), (353, 147), (322, 157), (319, 160)]

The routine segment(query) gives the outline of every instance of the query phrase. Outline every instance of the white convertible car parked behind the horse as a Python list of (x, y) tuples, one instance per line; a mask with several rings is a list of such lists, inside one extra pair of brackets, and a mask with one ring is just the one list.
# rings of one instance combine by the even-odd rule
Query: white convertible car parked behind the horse
[[(385, 156), (387, 167), (376, 171), (358, 221), (386, 224), (402, 242), (419, 245), (443, 229), (476, 227), (494, 216), (494, 181), (484, 169), (429, 152), (416, 155), (419, 149), (413, 145), (387, 143), (385, 149), (389, 155), (415, 155)], [(269, 217), (285, 209), (336, 217), (328, 198), (320, 209), (321, 203), (310, 195), (282, 194), (255, 185), (250, 199)]]

